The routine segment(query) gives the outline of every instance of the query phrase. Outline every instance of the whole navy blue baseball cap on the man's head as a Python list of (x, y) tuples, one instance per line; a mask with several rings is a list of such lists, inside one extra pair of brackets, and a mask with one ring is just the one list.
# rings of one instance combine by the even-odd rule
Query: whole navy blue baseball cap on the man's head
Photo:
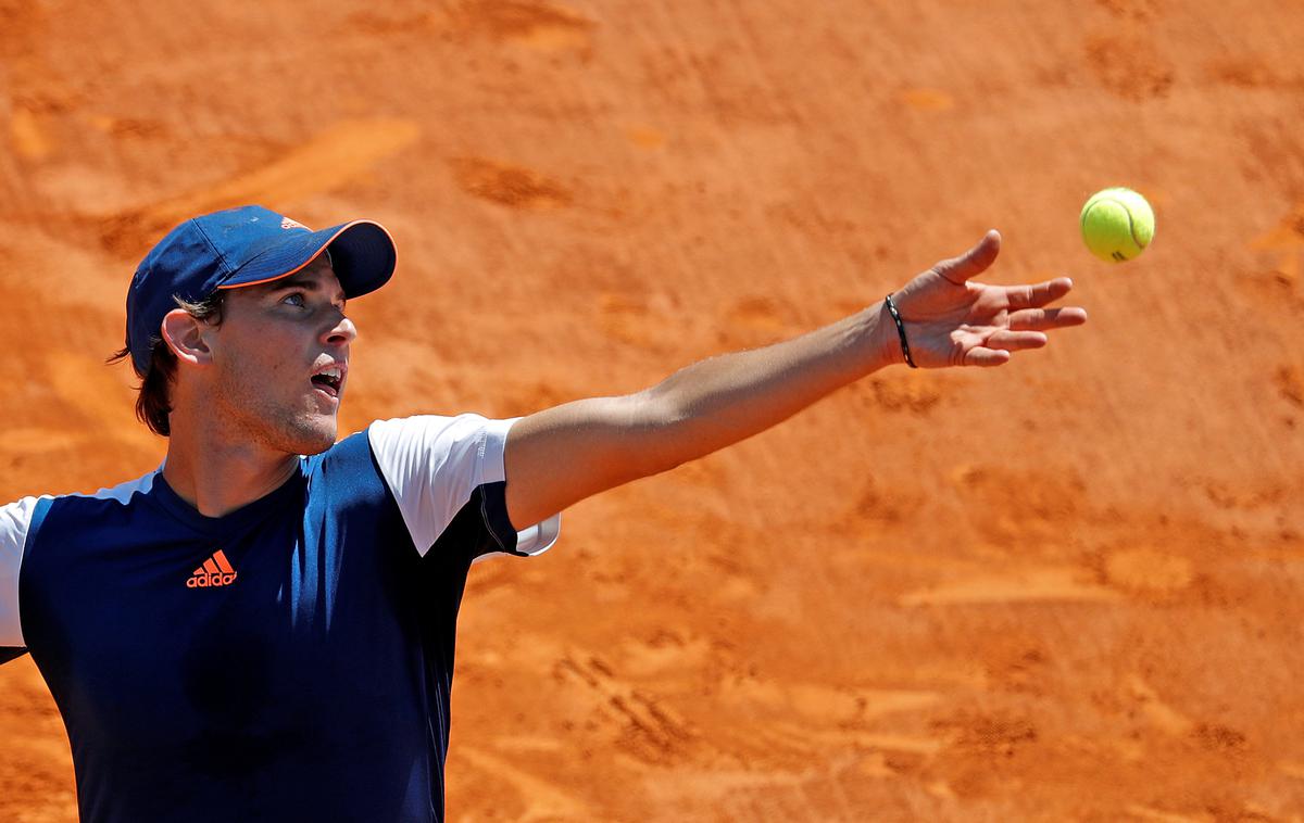
[(149, 370), (177, 297), (193, 303), (218, 289), (279, 280), (327, 247), (346, 297), (374, 292), (394, 273), (394, 240), (370, 220), (314, 232), (262, 206), (240, 206), (176, 227), (145, 255), (126, 292), (126, 348), (136, 372)]

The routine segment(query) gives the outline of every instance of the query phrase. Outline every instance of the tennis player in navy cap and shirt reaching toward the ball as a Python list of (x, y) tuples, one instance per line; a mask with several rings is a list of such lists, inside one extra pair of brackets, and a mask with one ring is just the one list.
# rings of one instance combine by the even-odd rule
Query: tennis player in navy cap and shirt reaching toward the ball
[[(441, 820), (467, 569), (537, 555), (578, 500), (709, 454), (896, 363), (999, 366), (1086, 320), (1072, 284), (974, 281), (995, 232), (882, 302), (645, 391), (336, 441), (378, 224), (257, 206), (137, 268), (126, 346), (163, 465), (0, 507), (0, 646), (63, 714), (90, 823)], [(0, 658), (3, 659), (3, 658)]]

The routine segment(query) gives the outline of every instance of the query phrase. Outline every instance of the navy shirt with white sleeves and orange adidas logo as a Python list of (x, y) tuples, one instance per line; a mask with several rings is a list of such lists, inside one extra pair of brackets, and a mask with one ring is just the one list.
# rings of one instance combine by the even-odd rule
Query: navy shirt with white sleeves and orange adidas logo
[(441, 820), (467, 569), (559, 529), (507, 518), (511, 423), (377, 422), (223, 517), (160, 471), (0, 507), (0, 647), (50, 685), (82, 819)]

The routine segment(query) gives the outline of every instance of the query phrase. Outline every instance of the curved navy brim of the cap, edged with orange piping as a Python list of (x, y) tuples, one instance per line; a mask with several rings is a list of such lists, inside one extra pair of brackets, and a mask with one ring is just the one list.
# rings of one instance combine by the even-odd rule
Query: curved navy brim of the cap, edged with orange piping
[(219, 284), (219, 289), (258, 285), (288, 277), (330, 247), (335, 277), (344, 297), (374, 292), (394, 275), (394, 238), (379, 223), (353, 220), (319, 232), (295, 232)]

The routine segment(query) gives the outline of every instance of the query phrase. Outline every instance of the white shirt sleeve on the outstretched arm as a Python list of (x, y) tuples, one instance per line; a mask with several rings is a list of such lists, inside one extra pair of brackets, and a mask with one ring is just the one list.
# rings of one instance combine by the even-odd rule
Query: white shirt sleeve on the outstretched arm
[(422, 556), (467, 505), (480, 507), (498, 551), (532, 556), (557, 542), (559, 514), (519, 531), (506, 517), (503, 453), (516, 419), (421, 415), (368, 428), (372, 454)]

